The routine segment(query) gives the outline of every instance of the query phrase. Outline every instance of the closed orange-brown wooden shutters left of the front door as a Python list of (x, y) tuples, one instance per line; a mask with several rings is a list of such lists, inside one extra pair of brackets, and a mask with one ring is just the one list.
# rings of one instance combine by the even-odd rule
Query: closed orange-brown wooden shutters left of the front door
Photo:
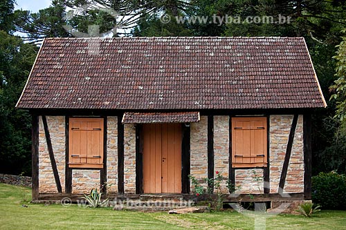
[(70, 118), (69, 166), (103, 167), (103, 119)]

